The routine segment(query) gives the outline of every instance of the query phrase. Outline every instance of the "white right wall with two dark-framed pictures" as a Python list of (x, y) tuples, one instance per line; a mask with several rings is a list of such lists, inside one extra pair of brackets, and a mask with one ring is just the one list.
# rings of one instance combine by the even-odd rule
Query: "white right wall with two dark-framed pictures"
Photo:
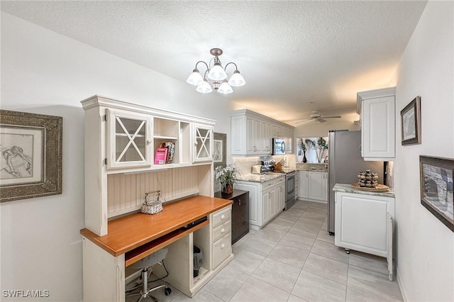
[[(454, 301), (454, 233), (421, 206), (419, 155), (454, 158), (454, 7), (428, 1), (397, 71), (397, 278), (406, 301)], [(421, 96), (421, 145), (402, 146), (399, 112)]]

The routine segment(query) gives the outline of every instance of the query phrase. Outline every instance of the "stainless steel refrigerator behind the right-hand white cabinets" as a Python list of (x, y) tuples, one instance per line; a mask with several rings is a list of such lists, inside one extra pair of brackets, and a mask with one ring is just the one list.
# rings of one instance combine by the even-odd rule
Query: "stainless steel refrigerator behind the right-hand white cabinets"
[(384, 162), (369, 162), (361, 157), (361, 131), (330, 130), (328, 132), (328, 233), (334, 235), (335, 184), (358, 181), (358, 172), (370, 169), (384, 183)]

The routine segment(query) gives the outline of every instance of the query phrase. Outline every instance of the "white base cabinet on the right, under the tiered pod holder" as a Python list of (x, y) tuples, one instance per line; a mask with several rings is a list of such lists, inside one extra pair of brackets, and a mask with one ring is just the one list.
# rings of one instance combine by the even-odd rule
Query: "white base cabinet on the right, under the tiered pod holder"
[(336, 191), (335, 245), (387, 257), (392, 279), (394, 197)]

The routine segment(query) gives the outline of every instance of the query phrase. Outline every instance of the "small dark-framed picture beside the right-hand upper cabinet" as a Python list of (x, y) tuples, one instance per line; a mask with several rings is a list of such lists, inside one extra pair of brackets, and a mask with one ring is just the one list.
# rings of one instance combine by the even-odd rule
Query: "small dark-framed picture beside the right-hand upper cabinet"
[(400, 111), (402, 128), (402, 145), (421, 144), (421, 97), (416, 96), (413, 101)]

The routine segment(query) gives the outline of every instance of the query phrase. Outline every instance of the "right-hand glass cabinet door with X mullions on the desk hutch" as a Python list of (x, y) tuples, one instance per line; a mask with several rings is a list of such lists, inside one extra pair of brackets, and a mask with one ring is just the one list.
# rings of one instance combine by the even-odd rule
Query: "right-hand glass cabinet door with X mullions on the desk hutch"
[(213, 128), (194, 124), (193, 162), (209, 162), (213, 160)]

